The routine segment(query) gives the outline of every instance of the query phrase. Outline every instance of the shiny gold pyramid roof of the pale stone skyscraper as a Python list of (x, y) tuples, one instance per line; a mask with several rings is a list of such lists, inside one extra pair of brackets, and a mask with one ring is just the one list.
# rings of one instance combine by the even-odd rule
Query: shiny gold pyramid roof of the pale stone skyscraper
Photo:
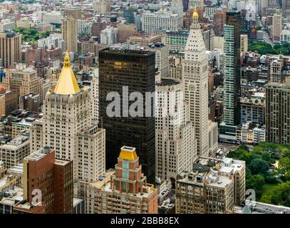
[(78, 87), (78, 82), (76, 81), (76, 76), (71, 68), (71, 60), (66, 52), (66, 57), (64, 58), (63, 68), (61, 69), (61, 75), (56, 83), (56, 88), (54, 93), (62, 95), (71, 95), (79, 93), (81, 90)]

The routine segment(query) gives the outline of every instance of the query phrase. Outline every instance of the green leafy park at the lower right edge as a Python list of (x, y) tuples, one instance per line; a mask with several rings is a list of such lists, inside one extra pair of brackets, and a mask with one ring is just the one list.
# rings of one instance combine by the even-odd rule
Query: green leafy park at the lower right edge
[(227, 157), (246, 162), (246, 189), (255, 190), (257, 201), (290, 207), (290, 145), (240, 145)]

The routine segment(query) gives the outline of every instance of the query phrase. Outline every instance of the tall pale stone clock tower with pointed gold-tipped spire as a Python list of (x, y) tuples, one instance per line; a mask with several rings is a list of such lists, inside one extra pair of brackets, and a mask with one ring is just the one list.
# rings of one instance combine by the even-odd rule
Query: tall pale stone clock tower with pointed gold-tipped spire
[(190, 108), (190, 121), (195, 128), (197, 154), (207, 156), (209, 152), (207, 57), (196, 8), (192, 14), (192, 26), (185, 46), (182, 83), (185, 102)]

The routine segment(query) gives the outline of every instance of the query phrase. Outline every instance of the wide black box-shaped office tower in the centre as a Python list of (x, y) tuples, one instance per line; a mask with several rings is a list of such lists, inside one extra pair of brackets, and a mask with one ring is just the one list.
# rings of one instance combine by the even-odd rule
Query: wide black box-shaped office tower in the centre
[[(154, 182), (154, 104), (151, 102), (145, 107), (145, 93), (155, 91), (155, 53), (105, 48), (99, 52), (99, 72), (100, 125), (103, 125), (106, 133), (106, 167), (114, 167), (120, 147), (130, 145), (138, 150), (148, 182)], [(128, 95), (123, 93), (127, 86)], [(110, 92), (117, 92), (120, 95), (119, 103), (115, 101), (118, 99), (114, 100), (115, 113), (120, 109), (119, 117), (108, 115), (107, 108), (110, 108), (113, 102), (113, 99), (106, 100)], [(128, 105), (125, 105), (125, 100), (128, 100), (133, 92), (143, 95), (143, 112), (140, 113), (143, 116), (132, 117), (130, 115), (132, 112), (128, 112), (134, 101), (128, 101)], [(146, 110), (151, 111), (150, 117), (146, 117), (148, 116)]]

